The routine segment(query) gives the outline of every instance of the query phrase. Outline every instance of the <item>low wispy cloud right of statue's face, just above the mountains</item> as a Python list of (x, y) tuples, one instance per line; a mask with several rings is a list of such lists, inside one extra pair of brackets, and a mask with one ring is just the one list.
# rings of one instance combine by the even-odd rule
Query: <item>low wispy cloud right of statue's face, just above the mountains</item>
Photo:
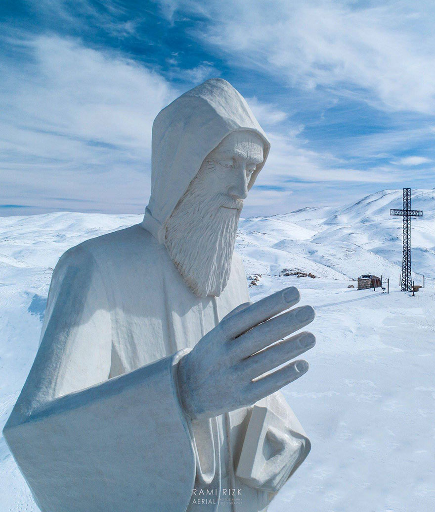
[(245, 217), (344, 204), (397, 182), (397, 167), (356, 169), (331, 153), (305, 148), (297, 136), (268, 135), (270, 155), (245, 201)]

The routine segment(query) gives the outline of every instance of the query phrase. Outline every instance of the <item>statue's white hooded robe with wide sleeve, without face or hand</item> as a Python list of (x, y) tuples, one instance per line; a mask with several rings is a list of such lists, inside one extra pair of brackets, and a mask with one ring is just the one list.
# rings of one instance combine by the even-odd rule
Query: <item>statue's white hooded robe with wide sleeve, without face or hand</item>
[[(66, 251), (54, 270), (40, 347), (4, 430), (42, 512), (232, 510), (223, 499), (218, 503), (220, 487), (241, 489), (235, 509), (254, 512), (267, 506), (309, 451), (282, 395), (262, 400), (285, 439), (297, 439), (299, 447), (297, 457), (277, 468), (277, 479), (260, 489), (261, 471), (251, 480), (235, 475), (242, 449), (248, 459), (249, 451), (263, 450), (264, 440), (251, 449), (252, 436), (243, 446), (253, 407), (194, 422), (181, 410), (177, 361), (249, 296), (236, 255), (222, 294), (195, 296), (162, 244), (164, 222), (223, 137), (237, 127), (263, 134), (230, 84), (211, 80), (196, 89), (154, 122), (144, 223)], [(201, 119), (212, 142), (198, 136), (189, 178), (189, 123), (198, 129)], [(176, 187), (178, 172), (184, 176)], [(196, 505), (193, 488), (199, 497), (208, 492), (207, 505)]]

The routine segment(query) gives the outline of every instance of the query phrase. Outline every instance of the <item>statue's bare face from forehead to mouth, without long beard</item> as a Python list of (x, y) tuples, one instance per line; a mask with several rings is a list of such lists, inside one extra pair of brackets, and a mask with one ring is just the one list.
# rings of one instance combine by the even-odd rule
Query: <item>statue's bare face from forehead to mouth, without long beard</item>
[(264, 144), (253, 132), (233, 132), (208, 155), (201, 166), (202, 184), (221, 208), (241, 210), (256, 165), (264, 159)]

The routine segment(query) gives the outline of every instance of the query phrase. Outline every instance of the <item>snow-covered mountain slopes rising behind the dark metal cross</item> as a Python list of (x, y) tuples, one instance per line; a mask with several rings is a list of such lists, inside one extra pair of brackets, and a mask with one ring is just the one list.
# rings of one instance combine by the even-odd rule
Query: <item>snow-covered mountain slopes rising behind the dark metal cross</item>
[[(435, 277), (435, 189), (415, 190), (411, 221), (413, 272)], [(290, 214), (244, 219), (237, 250), (251, 273), (276, 275), (283, 268), (331, 279), (374, 273), (398, 281), (402, 263), (402, 190), (382, 190), (340, 208), (304, 208)]]

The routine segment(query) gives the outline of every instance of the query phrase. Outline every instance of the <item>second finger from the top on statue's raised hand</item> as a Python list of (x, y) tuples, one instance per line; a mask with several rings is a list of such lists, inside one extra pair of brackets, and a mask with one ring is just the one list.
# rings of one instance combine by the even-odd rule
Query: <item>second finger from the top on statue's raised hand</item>
[(249, 357), (270, 344), (299, 331), (314, 320), (314, 309), (302, 306), (271, 318), (228, 343), (233, 361)]

